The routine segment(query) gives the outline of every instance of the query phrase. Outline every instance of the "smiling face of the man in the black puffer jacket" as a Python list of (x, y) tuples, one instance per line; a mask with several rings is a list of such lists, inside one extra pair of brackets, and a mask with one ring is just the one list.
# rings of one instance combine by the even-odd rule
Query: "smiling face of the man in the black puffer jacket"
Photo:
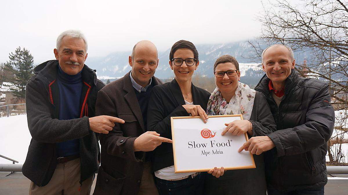
[(295, 60), (285, 46), (271, 46), (263, 54), (262, 69), (273, 84), (284, 87), (285, 79), (294, 68)]

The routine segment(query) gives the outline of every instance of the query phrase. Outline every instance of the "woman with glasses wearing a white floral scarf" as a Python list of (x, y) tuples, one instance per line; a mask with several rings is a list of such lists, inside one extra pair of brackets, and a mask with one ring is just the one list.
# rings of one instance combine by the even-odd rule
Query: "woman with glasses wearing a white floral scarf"
[[(214, 64), (216, 88), (207, 105), (207, 115), (239, 115), (244, 120), (235, 120), (226, 125), (222, 135), (264, 136), (276, 125), (265, 97), (240, 80), (239, 64), (229, 55), (219, 57)], [(263, 154), (254, 154), (255, 169), (227, 170), (223, 167), (208, 171), (204, 193), (211, 194), (266, 194), (266, 178)]]

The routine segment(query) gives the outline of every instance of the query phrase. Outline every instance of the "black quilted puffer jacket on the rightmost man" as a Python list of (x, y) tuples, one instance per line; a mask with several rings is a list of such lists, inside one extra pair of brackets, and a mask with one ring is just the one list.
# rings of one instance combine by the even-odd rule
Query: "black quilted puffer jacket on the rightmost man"
[(269, 80), (264, 75), (255, 87), (266, 96), (278, 129), (268, 135), (275, 148), (264, 156), (268, 187), (290, 191), (324, 186), (327, 141), (335, 118), (329, 85), (299, 77), (293, 70), (285, 81), (278, 108), (268, 88)]

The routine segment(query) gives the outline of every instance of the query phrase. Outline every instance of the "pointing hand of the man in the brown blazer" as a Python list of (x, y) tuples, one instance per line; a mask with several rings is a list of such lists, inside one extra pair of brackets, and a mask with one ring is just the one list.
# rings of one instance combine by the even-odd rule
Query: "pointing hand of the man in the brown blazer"
[(152, 151), (162, 142), (173, 143), (171, 139), (160, 137), (156, 132), (145, 132), (134, 140), (134, 151)]

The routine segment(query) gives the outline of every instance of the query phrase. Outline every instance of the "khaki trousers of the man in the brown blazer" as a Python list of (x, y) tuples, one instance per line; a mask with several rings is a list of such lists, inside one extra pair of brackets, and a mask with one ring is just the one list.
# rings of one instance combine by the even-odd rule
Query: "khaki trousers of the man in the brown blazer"
[(138, 195), (158, 195), (158, 190), (151, 173), (151, 163), (149, 162), (144, 164)]

